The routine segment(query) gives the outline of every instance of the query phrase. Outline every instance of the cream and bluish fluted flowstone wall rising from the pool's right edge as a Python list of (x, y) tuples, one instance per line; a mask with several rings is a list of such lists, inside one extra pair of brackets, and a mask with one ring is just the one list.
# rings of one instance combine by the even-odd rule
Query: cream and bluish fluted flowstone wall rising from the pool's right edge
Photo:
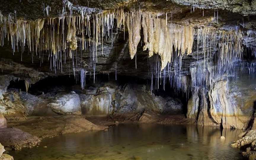
[(187, 117), (196, 117), (198, 125), (247, 129), (254, 118), (255, 87), (249, 76), (241, 76), (214, 82), (208, 94), (199, 95), (196, 89), (188, 101)]

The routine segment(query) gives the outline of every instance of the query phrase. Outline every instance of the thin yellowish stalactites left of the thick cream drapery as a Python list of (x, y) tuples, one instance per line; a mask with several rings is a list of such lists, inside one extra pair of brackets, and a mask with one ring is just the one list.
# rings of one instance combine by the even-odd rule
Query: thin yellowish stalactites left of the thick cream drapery
[[(69, 3), (67, 3), (69, 4)], [(71, 5), (68, 6), (72, 9)], [(55, 56), (55, 61), (60, 60), (62, 54), (69, 55), (78, 47), (77, 36), (80, 37), (82, 50), (85, 43), (91, 41), (96, 45), (95, 58), (97, 60), (97, 45), (103, 45), (103, 39), (110, 37), (114, 27), (114, 19), (117, 21), (117, 27), (123, 23), (124, 12), (122, 8), (113, 9), (99, 14), (87, 14), (66, 16), (57, 18), (44, 18), (36, 21), (25, 21), (23, 19), (14, 19), (12, 16), (0, 16), (0, 44), (4, 45), (5, 38), (11, 41), (13, 52), (24, 51), (28, 46), (28, 51), (39, 53), (43, 50), (49, 51), (50, 56)], [(103, 51), (102, 51), (103, 52)], [(65, 63), (64, 56), (64, 63)], [(43, 57), (42, 57), (43, 61)], [(61, 61), (60, 61), (61, 63)], [(56, 66), (57, 63), (53, 62)]]

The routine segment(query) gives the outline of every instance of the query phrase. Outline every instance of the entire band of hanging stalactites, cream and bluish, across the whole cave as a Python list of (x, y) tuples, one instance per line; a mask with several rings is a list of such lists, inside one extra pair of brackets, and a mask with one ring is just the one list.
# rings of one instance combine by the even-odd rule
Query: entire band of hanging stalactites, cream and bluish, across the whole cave
[[(137, 52), (137, 46), (144, 42), (143, 50), (148, 50), (148, 57), (157, 54), (160, 58), (156, 65), (151, 66), (151, 77), (153, 79), (162, 79), (166, 83), (166, 77), (177, 88), (188, 90), (189, 85), (186, 79), (182, 80), (182, 57), (192, 53), (193, 48), (202, 46), (204, 54), (204, 71), (206, 64), (211, 60), (212, 50), (218, 54), (218, 65), (224, 73), (230, 68), (235, 59), (239, 59), (243, 53), (242, 33), (239, 30), (219, 30), (214, 27), (194, 28), (193, 26), (184, 26), (172, 24), (167, 21), (167, 17), (159, 17), (152, 12), (124, 12), (123, 8), (104, 11), (98, 14), (91, 14), (84, 10), (80, 14), (73, 15), (71, 3), (65, 1), (70, 10), (70, 15), (63, 14), (57, 18), (44, 18), (36, 21), (25, 21), (23, 19), (14, 19), (0, 16), (0, 44), (4, 45), (5, 38), (11, 41), (14, 52), (25, 50), (32, 53), (32, 62), (34, 54), (39, 55), (41, 63), (44, 61), (43, 51), (49, 53), (50, 69), (61, 69), (62, 63), (66, 63), (66, 58), (78, 58), (77, 49), (89, 49), (91, 53), (90, 66), (94, 69), (97, 63), (98, 46), (102, 45), (103, 54), (104, 40), (112, 37), (113, 28), (128, 29), (129, 33), (129, 53), (134, 58)], [(115, 24), (115, 26), (114, 26)], [(140, 31), (143, 31), (141, 35)], [(195, 39), (195, 40), (194, 40)], [(112, 40), (113, 42), (113, 40)], [(213, 49), (214, 48), (214, 49)], [(217, 48), (217, 49), (216, 49)], [(75, 54), (76, 53), (76, 54)], [(81, 60), (81, 59), (80, 59)], [(161, 62), (161, 63), (160, 63)], [(77, 63), (77, 62), (76, 62)], [(86, 70), (77, 67), (73, 61), (73, 73), (81, 72), (81, 75), (87, 73)], [(75, 67), (76, 66), (76, 67)], [(171, 79), (171, 74), (175, 73)], [(202, 75), (203, 77), (203, 75)], [(85, 78), (81, 76), (82, 84)], [(159, 87), (159, 82), (156, 84)], [(193, 82), (193, 81), (192, 81)], [(153, 82), (152, 82), (153, 83)], [(84, 85), (82, 85), (84, 86)], [(153, 84), (152, 84), (153, 88)]]

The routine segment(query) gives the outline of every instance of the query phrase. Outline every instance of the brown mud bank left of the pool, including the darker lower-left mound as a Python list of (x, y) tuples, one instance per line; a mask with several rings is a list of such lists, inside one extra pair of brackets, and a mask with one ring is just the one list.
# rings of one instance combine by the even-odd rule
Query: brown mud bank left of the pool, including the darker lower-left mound
[(95, 125), (77, 115), (30, 116), (25, 121), (10, 122), (8, 127), (0, 129), (0, 142), (7, 150), (36, 146), (42, 138), (46, 137), (108, 128), (103, 125)]

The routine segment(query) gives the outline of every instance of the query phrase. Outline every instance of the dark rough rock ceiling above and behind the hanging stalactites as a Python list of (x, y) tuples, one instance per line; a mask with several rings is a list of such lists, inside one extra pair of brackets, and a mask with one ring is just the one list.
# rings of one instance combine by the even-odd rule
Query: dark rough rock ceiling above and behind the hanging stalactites
[[(72, 4), (72, 5), (71, 5)], [(256, 1), (255, 0), (155, 0), (155, 1), (129, 1), (129, 0), (10, 0), (1, 1), (1, 16), (12, 17), (13, 21), (18, 19), (26, 22), (35, 22), (38, 19), (45, 19), (44, 25), (51, 20), (71, 14), (79, 16), (81, 9), (87, 12), (87, 15), (100, 14), (109, 10), (122, 8), (122, 12), (140, 12), (153, 13), (163, 22), (170, 25), (189, 26), (194, 29), (215, 28), (217, 30), (239, 30), (241, 32), (241, 48), (250, 48), (252, 54), (255, 54), (255, 28), (256, 28)], [(80, 9), (80, 12), (79, 12)], [(65, 62), (52, 67), (53, 61), (49, 60), (49, 52), (40, 49), (40, 52), (30, 51), (30, 48), (15, 48), (13, 52), (10, 37), (2, 35), (2, 45), (0, 47), (1, 70), (2, 74), (10, 74), (19, 78), (28, 79), (30, 83), (45, 78), (47, 76), (79, 74), (80, 68), (85, 68), (88, 74), (117, 74), (137, 76), (149, 79), (149, 65), (156, 59), (161, 59), (154, 54), (149, 58), (149, 50), (143, 50), (143, 38), (137, 45), (135, 58), (131, 59), (129, 55), (129, 29), (127, 27), (117, 27), (117, 20), (112, 29), (112, 37), (104, 38), (103, 45), (98, 43), (96, 47), (97, 62), (92, 65), (92, 55), (90, 50), (81, 50), (80, 46), (73, 52), (72, 57), (66, 58)], [(52, 20), (53, 22), (53, 20)], [(15, 23), (15, 22), (14, 22)], [(3, 27), (6, 23), (0, 23)], [(16, 23), (15, 23), (16, 24)], [(78, 28), (78, 27), (77, 27)], [(78, 29), (76, 29), (78, 30)], [(130, 29), (131, 30), (131, 29)], [(40, 32), (40, 31), (39, 31)], [(79, 32), (79, 31), (77, 31)], [(143, 30), (141, 29), (141, 37)], [(196, 32), (196, 30), (194, 31)], [(4, 38), (5, 37), (5, 38)], [(8, 37), (8, 38), (7, 38)], [(8, 40), (9, 39), (9, 40)], [(76, 35), (77, 42), (81, 42), (81, 34)], [(197, 44), (198, 37), (194, 36), (194, 45), (189, 54), (184, 54), (181, 58), (181, 70), (185, 74), (188, 68), (195, 66), (198, 61), (205, 61), (218, 53), (218, 48), (207, 48), (205, 55), (204, 46)], [(218, 43), (220, 37), (212, 40), (212, 43)], [(244, 49), (246, 50), (246, 49)], [(51, 59), (51, 58), (50, 58)], [(161, 60), (160, 60), (161, 61)], [(175, 63), (180, 63), (179, 61)], [(57, 62), (60, 63), (60, 62)], [(163, 63), (163, 62), (162, 62)], [(61, 67), (60, 67), (61, 65)], [(79, 66), (79, 67), (77, 67)], [(172, 66), (172, 65), (171, 65)], [(169, 68), (175, 71), (175, 68)]]

